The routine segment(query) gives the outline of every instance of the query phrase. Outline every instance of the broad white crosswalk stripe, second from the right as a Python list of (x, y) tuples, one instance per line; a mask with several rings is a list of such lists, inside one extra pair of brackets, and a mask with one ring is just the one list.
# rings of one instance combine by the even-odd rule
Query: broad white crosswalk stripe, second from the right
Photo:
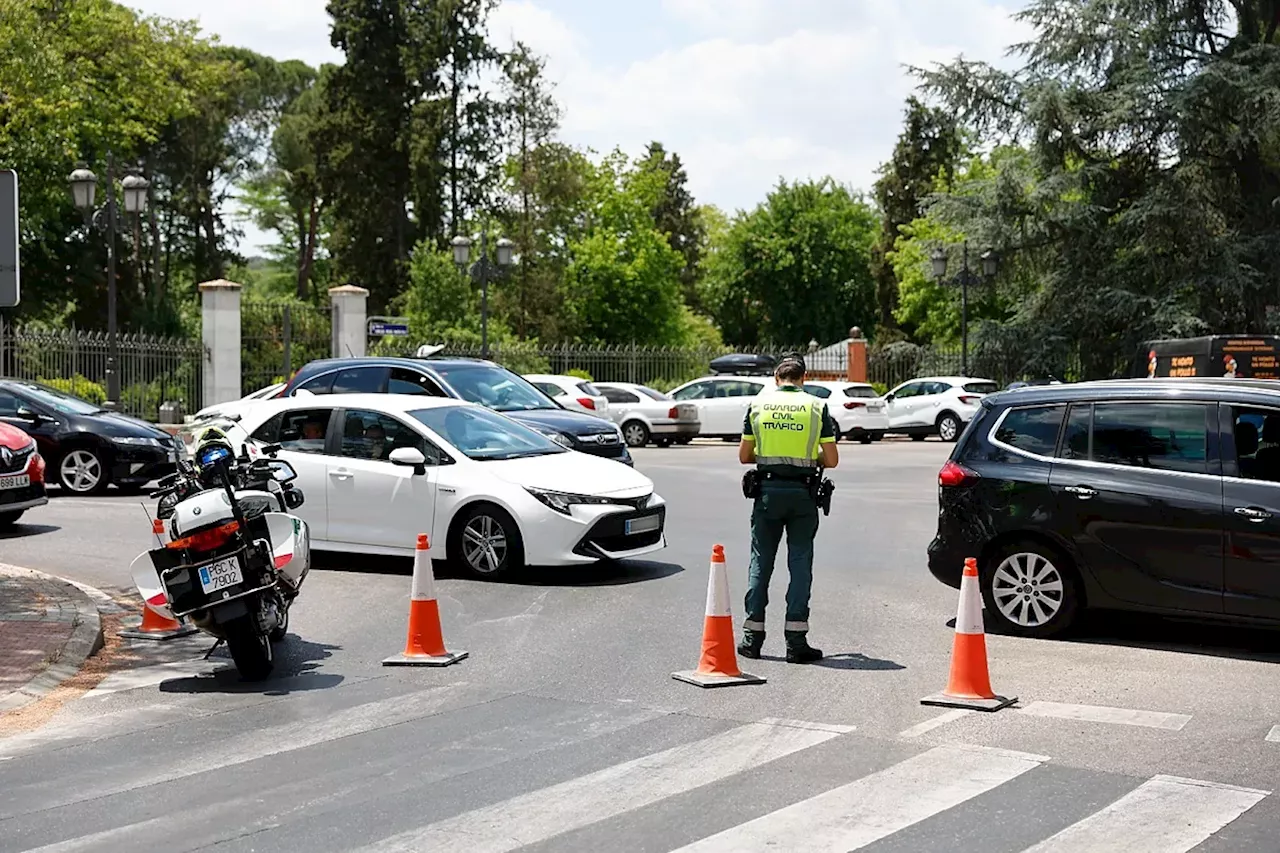
[(1043, 761), (1043, 756), (1002, 749), (937, 747), (677, 853), (856, 850), (1016, 779)]

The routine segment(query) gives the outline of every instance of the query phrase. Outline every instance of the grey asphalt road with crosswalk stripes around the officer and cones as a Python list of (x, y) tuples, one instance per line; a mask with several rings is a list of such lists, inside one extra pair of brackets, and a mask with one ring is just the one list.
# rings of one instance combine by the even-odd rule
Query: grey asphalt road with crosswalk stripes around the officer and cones
[[(768, 660), (742, 661), (768, 683), (671, 679), (698, 661), (716, 543), (741, 625), (748, 505), (731, 446), (640, 451), (669, 547), (440, 578), (448, 644), (471, 652), (456, 666), (381, 667), (408, 562), (330, 557), (268, 684), (200, 661), (204, 640), (146, 644), (45, 726), (6, 738), (0, 720), (0, 850), (1276, 849), (1276, 634), (1112, 616), (1069, 642), (988, 637), (1016, 708), (919, 704), (946, 683), (956, 607), (924, 566), (946, 452), (842, 446), (818, 666), (781, 660), (780, 565)], [(29, 520), (0, 560), (129, 592), (136, 498)]]

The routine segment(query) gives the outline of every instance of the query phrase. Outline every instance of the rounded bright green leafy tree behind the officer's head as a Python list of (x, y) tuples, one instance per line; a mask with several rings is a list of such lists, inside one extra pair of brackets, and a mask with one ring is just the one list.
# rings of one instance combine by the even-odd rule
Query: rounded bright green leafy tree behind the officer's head
[(879, 220), (831, 178), (781, 182), (730, 225), (704, 288), (726, 339), (819, 343), (867, 328), (876, 314), (870, 248)]

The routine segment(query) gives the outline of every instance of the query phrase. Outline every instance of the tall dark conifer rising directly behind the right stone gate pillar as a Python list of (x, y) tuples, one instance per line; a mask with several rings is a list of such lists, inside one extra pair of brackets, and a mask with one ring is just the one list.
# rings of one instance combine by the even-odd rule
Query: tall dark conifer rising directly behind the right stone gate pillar
[(328, 77), (310, 138), (333, 216), (334, 273), (369, 288), (378, 310), (403, 289), (416, 242), (407, 136), (419, 90), (403, 64), (402, 0), (330, 0), (328, 10), (346, 61)]

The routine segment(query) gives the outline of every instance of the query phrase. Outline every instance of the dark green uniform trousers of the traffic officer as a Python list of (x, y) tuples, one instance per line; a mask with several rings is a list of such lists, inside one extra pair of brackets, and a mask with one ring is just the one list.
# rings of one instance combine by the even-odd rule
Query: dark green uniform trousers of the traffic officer
[(769, 578), (782, 535), (787, 538), (787, 631), (809, 629), (809, 592), (813, 588), (813, 539), (818, 534), (818, 505), (800, 483), (765, 480), (751, 508), (751, 565), (748, 571), (748, 630), (764, 630), (769, 603)]

